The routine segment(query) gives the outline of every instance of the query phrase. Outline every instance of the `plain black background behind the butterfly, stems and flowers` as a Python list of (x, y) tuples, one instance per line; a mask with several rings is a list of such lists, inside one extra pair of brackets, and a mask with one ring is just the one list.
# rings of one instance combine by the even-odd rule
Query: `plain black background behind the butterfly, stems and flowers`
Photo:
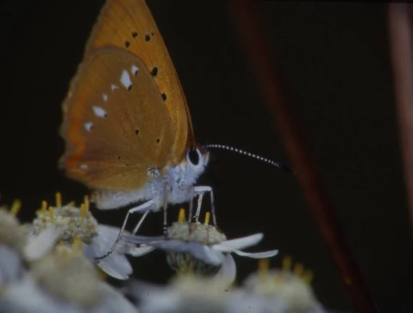
[[(148, 1), (187, 96), (198, 142), (230, 144), (288, 164), (224, 1)], [(57, 169), (61, 102), (103, 1), (1, 3), (1, 203), (77, 203), (87, 190)], [(381, 312), (412, 312), (412, 246), (396, 125), (385, 3), (259, 7), (292, 105), (303, 121), (335, 212)], [(352, 306), (295, 177), (257, 160), (214, 151), (210, 184), (228, 237), (265, 233), (251, 250), (278, 248), (315, 273), (324, 305)], [(96, 212), (96, 210), (94, 210)], [(175, 218), (177, 210), (171, 210)], [(172, 216), (173, 215), (173, 216)], [(96, 212), (120, 226), (125, 210)], [(134, 217), (138, 219), (138, 217)], [(160, 233), (154, 214), (141, 233)], [(252, 259), (235, 257), (242, 280)], [(162, 253), (134, 259), (136, 277), (171, 275)]]

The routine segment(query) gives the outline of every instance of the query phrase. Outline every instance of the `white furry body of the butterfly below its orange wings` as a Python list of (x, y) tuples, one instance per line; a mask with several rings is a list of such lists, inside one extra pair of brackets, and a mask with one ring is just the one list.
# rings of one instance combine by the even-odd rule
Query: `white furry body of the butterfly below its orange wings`
[[(94, 202), (100, 209), (120, 208), (138, 202), (150, 202), (150, 206), (142, 206), (142, 211), (158, 211), (163, 206), (164, 192), (168, 193), (169, 204), (188, 202), (191, 197), (193, 185), (204, 172), (209, 162), (209, 152), (200, 155), (200, 162), (192, 164), (188, 158), (169, 168), (148, 169), (151, 178), (142, 188), (132, 191), (115, 191), (101, 189), (94, 192)], [(161, 175), (161, 173), (165, 173)]]

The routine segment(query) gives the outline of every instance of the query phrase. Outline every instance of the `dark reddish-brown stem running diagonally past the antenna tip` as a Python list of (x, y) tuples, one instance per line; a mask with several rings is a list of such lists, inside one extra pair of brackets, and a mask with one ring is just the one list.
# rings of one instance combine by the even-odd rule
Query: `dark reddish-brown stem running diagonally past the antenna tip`
[(279, 71), (275, 66), (276, 54), (268, 45), (271, 37), (266, 36), (263, 17), (252, 0), (228, 0), (228, 3), (253, 71), (262, 88), (267, 109), (284, 139), (286, 151), (297, 171), (297, 179), (304, 191), (308, 207), (339, 269), (341, 279), (348, 288), (354, 308), (360, 313), (377, 312), (332, 211), (315, 160), (304, 140), (301, 124), (293, 112), (292, 105), (284, 96), (284, 88), (278, 78)]

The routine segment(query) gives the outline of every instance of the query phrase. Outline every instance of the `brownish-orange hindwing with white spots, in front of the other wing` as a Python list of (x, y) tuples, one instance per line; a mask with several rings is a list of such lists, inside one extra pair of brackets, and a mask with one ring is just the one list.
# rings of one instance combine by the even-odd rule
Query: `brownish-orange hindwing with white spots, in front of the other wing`
[(64, 102), (62, 162), (91, 188), (134, 190), (171, 158), (173, 125), (148, 69), (116, 48), (84, 61)]

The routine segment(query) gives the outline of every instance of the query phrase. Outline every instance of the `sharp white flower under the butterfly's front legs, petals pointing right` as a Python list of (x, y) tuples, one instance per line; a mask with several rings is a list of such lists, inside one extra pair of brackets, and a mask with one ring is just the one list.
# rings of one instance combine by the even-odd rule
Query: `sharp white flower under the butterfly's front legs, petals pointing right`
[[(207, 214), (207, 220), (209, 215)], [(227, 240), (225, 235), (215, 226), (184, 221), (184, 210), (181, 209), (178, 222), (167, 228), (168, 237), (145, 237), (123, 235), (122, 239), (139, 247), (129, 249), (134, 257), (145, 255), (152, 250), (167, 251), (167, 261), (173, 270), (187, 272), (188, 270), (211, 276), (215, 279), (233, 281), (235, 279), (235, 262), (231, 253), (242, 257), (262, 259), (277, 255), (278, 250), (248, 253), (240, 249), (254, 246), (263, 237), (261, 233)]]

